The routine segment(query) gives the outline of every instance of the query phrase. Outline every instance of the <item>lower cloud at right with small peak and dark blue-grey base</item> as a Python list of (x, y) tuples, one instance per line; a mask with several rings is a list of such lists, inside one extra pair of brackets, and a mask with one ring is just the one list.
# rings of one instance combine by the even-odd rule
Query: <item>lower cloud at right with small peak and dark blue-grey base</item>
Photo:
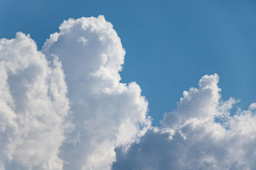
[(116, 148), (113, 169), (255, 169), (255, 103), (230, 113), (237, 102), (221, 101), (216, 74), (199, 89), (183, 92), (177, 110), (164, 115), (129, 150)]

